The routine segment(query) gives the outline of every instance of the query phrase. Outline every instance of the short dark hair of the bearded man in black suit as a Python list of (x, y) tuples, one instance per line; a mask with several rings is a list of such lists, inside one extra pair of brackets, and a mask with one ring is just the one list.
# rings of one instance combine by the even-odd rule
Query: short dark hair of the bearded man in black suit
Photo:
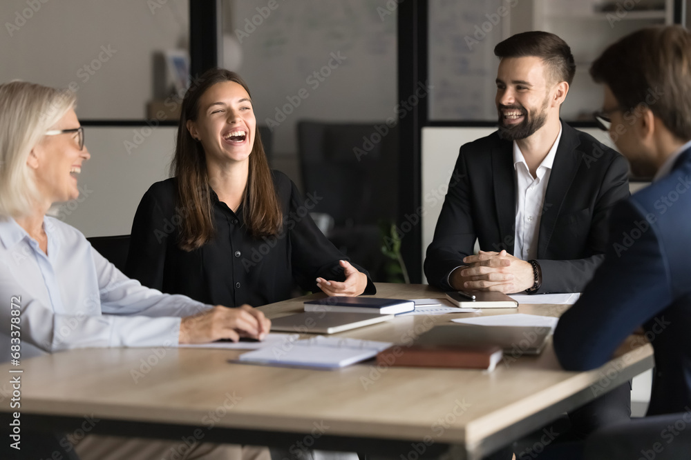
[(574, 55), (567, 43), (555, 34), (539, 30), (515, 34), (495, 46), (494, 54), (500, 58), (539, 57), (547, 64), (553, 81), (566, 81), (569, 86), (574, 81)]

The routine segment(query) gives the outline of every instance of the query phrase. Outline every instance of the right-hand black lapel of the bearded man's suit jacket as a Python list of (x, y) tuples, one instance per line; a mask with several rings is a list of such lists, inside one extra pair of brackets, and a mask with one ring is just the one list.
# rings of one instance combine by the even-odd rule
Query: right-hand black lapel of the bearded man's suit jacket
[(562, 123), (562, 136), (549, 174), (545, 202), (542, 204), (542, 217), (538, 233), (538, 258), (546, 257), (547, 246), (554, 231), (557, 217), (571, 183), (576, 177), (578, 164), (583, 159), (583, 152), (576, 150), (580, 145), (578, 132)]

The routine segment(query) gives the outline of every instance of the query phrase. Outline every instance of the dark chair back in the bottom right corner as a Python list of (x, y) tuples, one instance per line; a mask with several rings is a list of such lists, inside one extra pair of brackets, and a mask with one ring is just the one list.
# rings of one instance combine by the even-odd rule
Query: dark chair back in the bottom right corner
[(587, 460), (691, 458), (691, 410), (679, 414), (632, 419), (592, 434), (585, 445)]

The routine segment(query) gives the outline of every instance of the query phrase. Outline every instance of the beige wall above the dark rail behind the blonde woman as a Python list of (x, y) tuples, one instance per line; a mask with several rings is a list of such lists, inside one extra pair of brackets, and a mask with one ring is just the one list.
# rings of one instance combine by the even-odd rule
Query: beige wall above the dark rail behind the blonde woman
[(82, 119), (143, 119), (153, 97), (154, 52), (189, 41), (188, 0), (30, 3), (37, 11), (27, 0), (0, 2), (0, 82), (73, 83)]

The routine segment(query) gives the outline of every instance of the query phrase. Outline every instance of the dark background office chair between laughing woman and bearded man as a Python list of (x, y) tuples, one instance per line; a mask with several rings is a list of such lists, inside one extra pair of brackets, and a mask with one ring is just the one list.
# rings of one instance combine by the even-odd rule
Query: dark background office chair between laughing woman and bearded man
[(329, 214), (328, 239), (381, 279), (379, 223), (394, 223), (398, 211), (398, 130), (384, 121), (300, 121), (297, 130), (303, 190), (320, 198), (310, 211)]

